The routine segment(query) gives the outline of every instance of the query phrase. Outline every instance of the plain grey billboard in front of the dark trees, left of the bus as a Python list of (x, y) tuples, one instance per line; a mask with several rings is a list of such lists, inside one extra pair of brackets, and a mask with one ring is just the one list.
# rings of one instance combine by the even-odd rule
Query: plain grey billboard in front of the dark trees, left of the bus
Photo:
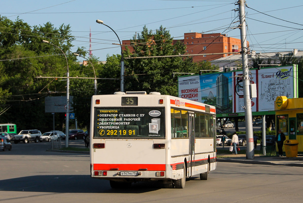
[[(73, 97), (69, 96), (69, 112), (72, 110)], [(66, 96), (61, 97), (45, 97), (45, 113), (65, 113), (66, 112)]]

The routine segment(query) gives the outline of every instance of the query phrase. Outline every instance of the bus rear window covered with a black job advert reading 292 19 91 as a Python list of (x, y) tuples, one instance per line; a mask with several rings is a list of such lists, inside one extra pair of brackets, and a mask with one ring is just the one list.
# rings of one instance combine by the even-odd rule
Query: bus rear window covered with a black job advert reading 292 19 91
[(95, 109), (93, 138), (165, 138), (164, 108)]

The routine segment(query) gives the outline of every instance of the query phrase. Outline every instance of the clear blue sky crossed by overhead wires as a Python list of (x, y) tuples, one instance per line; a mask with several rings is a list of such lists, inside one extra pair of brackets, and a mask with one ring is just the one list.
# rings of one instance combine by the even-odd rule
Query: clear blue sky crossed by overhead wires
[[(89, 30), (92, 31), (92, 53), (100, 61), (106, 55), (120, 54), (116, 35), (97, 19), (110, 26), (120, 40), (131, 39), (144, 25), (156, 30), (161, 25), (174, 39), (184, 38), (186, 32), (222, 33), (240, 38), (236, 1), (206, 0), (53, 0), (2, 1), (0, 15), (15, 21), (17, 16), (29, 25), (51, 22), (55, 27), (71, 25), (76, 36), (72, 51), (77, 47), (89, 50)], [(265, 4), (266, 2), (266, 4)], [(247, 0), (247, 34), (251, 50), (282, 52), (303, 50), (303, 2), (282, 0)], [(290, 8), (293, 7), (293, 8)], [(253, 10), (255, 9), (255, 10)], [(263, 13), (259, 13), (263, 12)], [(266, 15), (265, 15), (266, 14)], [(271, 16), (268, 16), (271, 15)], [(277, 19), (280, 18), (280, 19)], [(261, 22), (262, 21), (262, 22)], [(288, 21), (288, 22), (287, 22)], [(228, 28), (228, 29), (227, 29)], [(301, 30), (300, 30), (301, 29)]]

